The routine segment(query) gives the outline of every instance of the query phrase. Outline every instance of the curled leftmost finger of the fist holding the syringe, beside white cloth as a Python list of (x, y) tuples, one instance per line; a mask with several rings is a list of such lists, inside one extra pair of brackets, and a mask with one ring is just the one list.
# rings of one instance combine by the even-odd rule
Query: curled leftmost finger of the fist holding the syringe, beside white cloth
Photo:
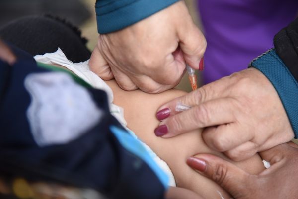
[(110, 80), (114, 78), (111, 68), (108, 62), (102, 56), (98, 46), (96, 46), (92, 51), (89, 60), (89, 67), (92, 72), (104, 80)]

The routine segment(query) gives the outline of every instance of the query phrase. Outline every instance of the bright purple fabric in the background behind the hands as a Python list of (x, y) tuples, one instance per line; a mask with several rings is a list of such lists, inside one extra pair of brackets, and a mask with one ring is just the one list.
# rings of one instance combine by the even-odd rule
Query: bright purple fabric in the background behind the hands
[(207, 49), (204, 83), (247, 68), (295, 19), (298, 0), (198, 0)]

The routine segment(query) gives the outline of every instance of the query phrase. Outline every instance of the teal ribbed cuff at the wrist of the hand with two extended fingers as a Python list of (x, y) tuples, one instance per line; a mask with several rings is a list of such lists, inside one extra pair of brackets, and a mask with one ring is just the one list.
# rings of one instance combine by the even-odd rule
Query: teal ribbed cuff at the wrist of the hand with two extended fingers
[(295, 138), (298, 138), (298, 82), (283, 61), (271, 49), (254, 59), (250, 67), (260, 70), (275, 87), (287, 112)]

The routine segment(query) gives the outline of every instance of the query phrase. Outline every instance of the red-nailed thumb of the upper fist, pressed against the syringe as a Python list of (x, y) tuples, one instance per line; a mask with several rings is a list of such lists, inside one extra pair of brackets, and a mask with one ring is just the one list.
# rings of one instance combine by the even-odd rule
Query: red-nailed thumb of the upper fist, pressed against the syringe
[(192, 68), (202, 71), (204, 67), (203, 55), (207, 46), (206, 39), (191, 19), (185, 26), (178, 32), (183, 57)]

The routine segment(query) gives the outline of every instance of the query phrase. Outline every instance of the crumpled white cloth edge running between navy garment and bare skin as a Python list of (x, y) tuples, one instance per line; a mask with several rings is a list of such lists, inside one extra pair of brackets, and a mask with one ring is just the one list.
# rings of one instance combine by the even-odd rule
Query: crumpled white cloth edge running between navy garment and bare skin
[[(110, 113), (122, 124), (123, 127), (125, 127), (127, 130), (127, 122), (124, 119), (124, 110), (122, 107), (119, 107), (115, 104), (113, 104), (113, 92), (112, 89), (101, 79), (99, 78), (95, 73), (90, 71), (88, 63), (89, 60), (81, 63), (73, 63), (70, 60), (67, 59), (67, 57), (64, 55), (62, 50), (58, 48), (58, 50), (55, 53), (46, 53), (44, 55), (37, 55), (34, 57), (37, 62), (45, 63), (45, 64), (55, 64), (60, 65), (68, 68), (69, 70), (73, 71), (77, 76), (82, 78), (84, 81), (89, 83), (91, 86), (97, 89), (104, 90), (107, 93), (109, 105), (110, 105)], [(136, 139), (137, 136), (135, 133), (133, 133), (131, 130), (129, 132), (134, 136)], [(142, 142), (142, 141), (141, 141)], [(150, 147), (142, 142), (145, 148), (149, 151), (151, 156), (153, 157), (154, 161), (157, 163), (157, 165), (169, 176), (169, 186), (176, 186), (174, 175), (169, 168), (169, 166), (161, 160), (151, 149)]]

